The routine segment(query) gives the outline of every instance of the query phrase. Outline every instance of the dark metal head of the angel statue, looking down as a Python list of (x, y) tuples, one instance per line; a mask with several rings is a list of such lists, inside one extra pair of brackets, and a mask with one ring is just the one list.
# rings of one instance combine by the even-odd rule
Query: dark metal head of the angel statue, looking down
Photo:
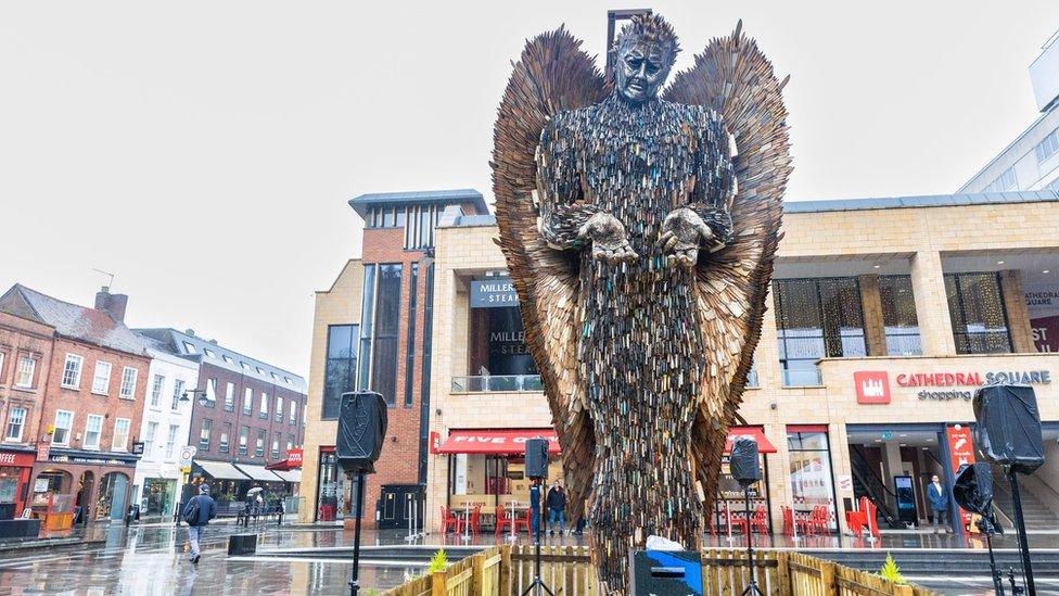
[(614, 40), (614, 89), (631, 103), (658, 97), (676, 62), (680, 43), (673, 27), (656, 14), (637, 15)]

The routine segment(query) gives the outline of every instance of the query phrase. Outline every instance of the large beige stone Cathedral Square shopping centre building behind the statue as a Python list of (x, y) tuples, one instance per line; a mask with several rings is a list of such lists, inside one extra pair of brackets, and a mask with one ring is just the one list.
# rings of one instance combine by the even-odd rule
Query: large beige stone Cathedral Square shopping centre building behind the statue
[[(786, 508), (816, 507), (841, 529), (862, 496), (895, 522), (922, 522), (930, 475), (950, 483), (973, 458), (971, 395), (994, 379), (1032, 384), (1049, 461), (1059, 458), (1055, 192), (793, 202), (783, 232), (739, 410), (747, 426), (731, 430), (761, 442), (765, 480), (752, 507), (775, 528)], [(496, 237), (492, 216), (468, 211), (443, 212), (434, 230), (432, 325), (412, 331), (432, 345), (426, 528), (437, 527), (443, 506), (482, 506), (488, 517), (496, 506), (524, 503), (522, 445), (554, 436)], [(362, 370), (355, 338), (367, 284), (365, 266), (350, 261), (317, 295), (306, 459), (322, 459), (305, 468), (317, 519), (350, 508), (349, 487), (326, 461), (335, 394), (326, 403), (329, 390), (359, 385), (349, 377)], [(319, 419), (323, 407), (332, 409)], [(394, 473), (392, 458), (409, 458), (395, 445), (410, 431), (394, 430), (393, 410), (391, 420), (367, 507), (387, 494), (374, 486)], [(1059, 511), (1048, 489), (1056, 483), (1059, 468), (1049, 464), (1026, 481), (1026, 498)], [(715, 525), (724, 525), (726, 507), (743, 508), (730, 479), (723, 477), (719, 496)]]

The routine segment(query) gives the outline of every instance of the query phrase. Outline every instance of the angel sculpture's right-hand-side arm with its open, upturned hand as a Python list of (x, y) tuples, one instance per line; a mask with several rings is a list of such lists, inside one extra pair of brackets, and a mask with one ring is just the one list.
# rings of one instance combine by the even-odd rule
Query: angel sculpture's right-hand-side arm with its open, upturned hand
[(696, 155), (694, 187), (688, 204), (669, 212), (662, 223), (660, 242), (668, 262), (691, 267), (699, 250), (720, 250), (731, 240), (728, 207), (736, 191), (728, 132), (720, 119), (703, 114)]

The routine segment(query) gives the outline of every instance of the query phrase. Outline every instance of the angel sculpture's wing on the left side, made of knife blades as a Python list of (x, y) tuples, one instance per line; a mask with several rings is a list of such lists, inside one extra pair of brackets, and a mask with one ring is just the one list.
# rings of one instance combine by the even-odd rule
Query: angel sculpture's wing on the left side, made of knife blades
[(534, 154), (552, 114), (605, 97), (595, 61), (564, 28), (526, 43), (508, 81), (493, 132), (493, 189), (500, 248), (519, 292), (526, 343), (540, 371), (563, 451), (572, 519), (582, 510), (595, 469), (596, 441), (577, 366), (577, 263), (549, 249), (537, 229), (532, 193)]

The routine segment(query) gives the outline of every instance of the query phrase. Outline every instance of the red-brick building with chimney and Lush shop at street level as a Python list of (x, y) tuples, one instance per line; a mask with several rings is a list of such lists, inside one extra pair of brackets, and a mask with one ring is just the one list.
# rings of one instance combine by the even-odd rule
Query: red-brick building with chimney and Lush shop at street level
[(128, 296), (103, 288), (89, 308), (14, 286), (0, 312), (54, 328), (33, 468), (33, 498), (73, 494), (89, 520), (122, 519), (150, 358), (125, 326)]

